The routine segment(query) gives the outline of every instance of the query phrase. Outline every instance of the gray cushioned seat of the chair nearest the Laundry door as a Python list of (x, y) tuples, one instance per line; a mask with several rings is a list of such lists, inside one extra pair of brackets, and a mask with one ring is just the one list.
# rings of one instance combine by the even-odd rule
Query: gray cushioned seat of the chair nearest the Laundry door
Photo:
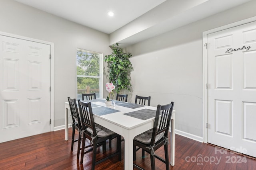
[[(144, 144), (150, 144), (151, 138), (152, 138), (153, 129), (150, 129), (146, 132), (141, 133), (140, 135), (137, 135), (134, 137), (134, 140), (144, 143)], [(164, 132), (156, 135), (155, 143), (159, 141), (162, 137), (164, 137)]]

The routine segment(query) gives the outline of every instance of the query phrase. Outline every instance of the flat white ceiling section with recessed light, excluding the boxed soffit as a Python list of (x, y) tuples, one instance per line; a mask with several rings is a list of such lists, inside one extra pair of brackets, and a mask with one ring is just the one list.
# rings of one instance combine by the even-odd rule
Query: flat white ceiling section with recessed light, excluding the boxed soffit
[[(166, 0), (15, 0), (110, 34)], [(115, 16), (108, 16), (112, 11)]]

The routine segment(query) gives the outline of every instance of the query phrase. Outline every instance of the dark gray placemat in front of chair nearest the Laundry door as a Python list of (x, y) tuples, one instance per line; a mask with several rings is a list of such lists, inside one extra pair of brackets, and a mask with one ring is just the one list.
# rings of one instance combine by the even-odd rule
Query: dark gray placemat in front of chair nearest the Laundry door
[(152, 117), (155, 117), (156, 116), (156, 110), (141, 109), (141, 110), (132, 111), (132, 112), (129, 112), (129, 113), (124, 113), (124, 115), (128, 115), (128, 116), (135, 117), (135, 118), (138, 118), (138, 119), (146, 120), (146, 119), (150, 119)]

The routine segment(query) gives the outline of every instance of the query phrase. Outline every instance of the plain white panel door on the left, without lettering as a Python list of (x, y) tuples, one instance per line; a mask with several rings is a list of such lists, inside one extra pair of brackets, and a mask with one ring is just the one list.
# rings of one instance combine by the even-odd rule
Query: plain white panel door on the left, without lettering
[(0, 143), (50, 131), (50, 45), (0, 35)]

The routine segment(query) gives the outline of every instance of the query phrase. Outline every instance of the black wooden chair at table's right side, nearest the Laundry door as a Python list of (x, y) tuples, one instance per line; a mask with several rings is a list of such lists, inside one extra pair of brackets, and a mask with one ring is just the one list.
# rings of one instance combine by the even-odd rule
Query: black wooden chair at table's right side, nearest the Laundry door
[[(155, 170), (155, 158), (166, 164), (166, 170), (169, 170), (169, 156), (168, 156), (168, 132), (170, 121), (172, 117), (172, 109), (174, 102), (167, 105), (158, 105), (156, 110), (156, 118), (153, 129), (150, 129), (140, 135), (134, 137), (133, 158), (136, 160), (136, 146), (142, 148), (150, 154), (151, 169)], [(164, 145), (165, 160), (155, 154), (155, 151)], [(142, 169), (140, 166), (134, 164), (136, 168)]]

